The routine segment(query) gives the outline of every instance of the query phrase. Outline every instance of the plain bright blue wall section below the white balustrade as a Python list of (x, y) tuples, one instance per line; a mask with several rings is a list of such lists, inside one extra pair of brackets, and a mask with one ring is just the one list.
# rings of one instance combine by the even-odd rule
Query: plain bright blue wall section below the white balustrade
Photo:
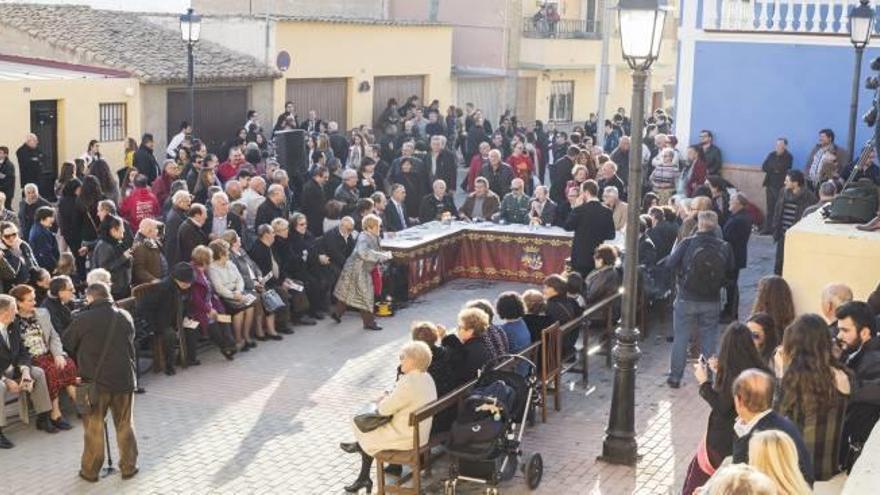
[[(861, 121), (873, 93), (863, 81), (880, 49), (865, 52), (860, 77), (856, 145), (871, 135)], [(724, 161), (760, 166), (774, 139), (789, 139), (802, 166), (819, 129), (829, 127), (846, 146), (853, 49), (772, 43), (696, 43), (691, 142), (700, 129), (715, 133)]]

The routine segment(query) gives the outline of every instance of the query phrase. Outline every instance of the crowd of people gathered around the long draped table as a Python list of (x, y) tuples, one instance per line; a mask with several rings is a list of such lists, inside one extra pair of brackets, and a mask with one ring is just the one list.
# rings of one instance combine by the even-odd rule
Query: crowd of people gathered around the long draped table
[[(712, 133), (701, 131), (700, 142), (682, 153), (673, 120), (662, 109), (645, 118), (640, 150), (630, 149), (631, 121), (622, 108), (604, 123), (591, 115), (570, 132), (554, 122), (527, 126), (510, 112), (493, 127), (473, 104), (449, 106), (443, 113), (439, 101), (423, 105), (416, 96), (403, 104), (390, 99), (372, 127), (350, 132), (314, 110), (300, 118), (293, 102), (272, 128), (264, 129), (260, 119), (249, 111), (231, 146), (222, 150), (208, 150), (186, 122), (164, 150), (155, 149), (150, 134), (140, 143), (129, 139), (123, 163), (108, 163), (100, 143), (91, 141), (53, 180), (46, 180), (36, 136), (29, 135), (16, 152), (18, 166), (0, 147), (0, 289), (11, 297), (0, 299), (0, 385), (4, 392), (31, 397), (38, 428), (70, 427), (59, 398), (74, 394), (84, 377), (77, 359), (81, 346), (68, 340), (79, 308), (87, 313), (133, 297), (138, 318), (132, 333), (155, 335), (164, 371), (174, 375), (179, 363), (200, 364), (200, 340), (212, 341), (234, 360), (258, 342), (292, 335), (296, 325), (314, 325), (327, 316), (339, 322), (348, 309), (359, 312), (364, 329), (381, 330), (374, 305), (391, 254), (380, 240), (413, 225), (456, 218), (574, 231), (571, 271), (548, 277), (542, 292), (505, 293), (496, 304), (468, 303), (449, 335), (431, 323), (414, 325), (414, 339), (430, 353), (423, 346), (407, 347), (401, 373), (427, 373), (430, 379), (401, 380), (398, 388), (413, 382), (407, 389), (417, 389), (424, 403), (469, 380), (493, 357), (536, 341), (549, 324), (570, 321), (616, 293), (620, 253), (608, 241), (625, 229), (629, 209), (637, 208), (643, 290), (650, 297), (675, 297), (667, 383), (681, 386), (689, 357), (713, 358), (697, 370), (713, 414), (706, 455), (689, 474), (690, 491), (736, 452), (736, 418), (748, 417), (743, 408), (769, 404), (747, 389), (766, 388), (761, 381), (773, 373), (779, 385), (772, 403), (797, 426), (794, 443), (800, 448), (802, 441), (810, 454), (812, 467), (802, 470), (804, 479), (827, 479), (845, 465), (831, 461), (831, 452), (836, 456), (847, 437), (818, 438), (817, 432), (840, 431), (823, 422), (844, 421), (860, 403), (854, 397), (872, 393), (847, 379), (873, 367), (873, 358), (864, 358), (875, 334), (873, 319), (866, 322), (862, 314), (864, 305), (842, 305), (836, 297), (836, 309), (825, 316), (840, 313), (836, 320), (847, 323), (820, 335), (818, 317), (795, 318), (793, 310), (784, 310), (778, 298), (784, 280), (777, 277), (762, 283), (773, 294), (759, 294), (761, 311), (718, 332), (721, 321), (739, 320), (738, 275), (748, 264), (753, 227), (779, 242), (778, 272), (785, 232), (815, 202), (812, 191), (826, 201), (836, 193), (842, 174), (831, 164), (848, 160), (830, 130), (821, 131), (806, 172), (791, 169), (785, 140), (777, 142), (764, 164), (772, 210), (765, 220), (721, 177), (721, 150)], [(302, 174), (289, 174), (275, 160), (274, 134), (294, 128), (306, 131), (308, 164)], [(644, 167), (642, 197), (628, 195), (631, 153), (638, 153)], [(871, 167), (876, 165), (860, 173), (880, 177)], [(16, 177), (22, 195), (13, 211)], [(459, 190), (461, 204), (454, 199)], [(766, 297), (773, 297), (773, 304)], [(847, 325), (855, 325), (854, 337)], [(566, 358), (573, 357), (576, 340), (571, 333), (563, 342)], [(842, 355), (840, 342), (847, 351)], [(94, 374), (95, 360), (92, 351), (87, 373)], [(805, 360), (824, 364), (806, 366)], [(768, 374), (743, 378), (752, 369)], [(127, 385), (114, 392), (128, 392)], [(125, 410), (126, 404), (108, 397), (106, 406)], [(130, 414), (130, 402), (127, 406)], [(755, 417), (768, 407), (758, 409)], [(369, 482), (376, 442), (359, 437), (354, 446), (344, 446), (364, 456), (354, 487)], [(129, 474), (136, 472), (132, 443)], [(857, 453), (852, 446), (858, 440), (846, 443), (850, 456)], [(785, 442), (762, 443), (788, 448), (778, 444)], [(2, 430), (0, 447), (12, 447)], [(94, 450), (94, 444), (88, 448)], [(84, 456), (84, 478), (93, 478), (93, 468), (94, 456), (88, 465)]]

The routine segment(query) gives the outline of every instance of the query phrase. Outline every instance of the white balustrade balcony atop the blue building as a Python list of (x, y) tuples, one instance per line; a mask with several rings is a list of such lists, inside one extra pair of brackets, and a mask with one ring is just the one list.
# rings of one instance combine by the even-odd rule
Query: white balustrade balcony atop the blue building
[[(849, 35), (849, 12), (857, 0), (703, 0), (706, 31)], [(876, 9), (875, 9), (876, 10)], [(880, 34), (880, 22), (874, 22)]]

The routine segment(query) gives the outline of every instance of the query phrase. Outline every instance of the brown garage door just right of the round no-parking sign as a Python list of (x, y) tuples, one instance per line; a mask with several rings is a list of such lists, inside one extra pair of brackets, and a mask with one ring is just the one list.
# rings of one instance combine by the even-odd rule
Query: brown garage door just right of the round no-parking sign
[(309, 110), (317, 110), (318, 117), (348, 127), (348, 79), (288, 79), (287, 100), (294, 102), (300, 118), (307, 118)]

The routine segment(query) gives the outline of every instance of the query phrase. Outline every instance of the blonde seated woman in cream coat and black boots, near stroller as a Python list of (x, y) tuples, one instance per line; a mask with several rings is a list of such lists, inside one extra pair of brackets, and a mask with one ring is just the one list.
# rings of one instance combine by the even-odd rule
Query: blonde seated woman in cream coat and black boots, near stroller
[[(370, 479), (370, 467), (373, 456), (383, 450), (409, 450), (413, 444), (413, 429), (409, 426), (409, 416), (425, 404), (437, 399), (434, 380), (427, 373), (431, 365), (431, 349), (424, 342), (408, 342), (400, 350), (400, 371), (403, 376), (397, 381), (394, 390), (384, 395), (377, 404), (377, 412), (390, 416), (391, 421), (375, 430), (362, 432), (353, 426), (357, 442), (342, 443), (340, 448), (348, 453), (360, 453), (361, 471), (351, 485), (345, 487), (347, 492), (358, 492), (366, 488), (367, 493), (373, 489)], [(419, 424), (419, 438), (422, 445), (430, 439), (431, 419)]]

